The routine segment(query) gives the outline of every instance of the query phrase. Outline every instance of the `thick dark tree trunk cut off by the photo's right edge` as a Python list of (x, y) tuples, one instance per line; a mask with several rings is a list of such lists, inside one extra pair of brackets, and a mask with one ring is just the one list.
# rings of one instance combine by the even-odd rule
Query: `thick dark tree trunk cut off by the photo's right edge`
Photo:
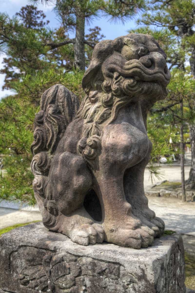
[[(195, 78), (195, 49), (191, 52), (190, 58), (190, 69), (191, 74)], [(195, 101), (193, 107), (195, 106)], [(189, 134), (190, 134), (190, 142), (191, 142), (191, 167), (189, 171), (189, 178), (186, 181), (188, 188), (195, 188), (195, 125), (189, 125)]]

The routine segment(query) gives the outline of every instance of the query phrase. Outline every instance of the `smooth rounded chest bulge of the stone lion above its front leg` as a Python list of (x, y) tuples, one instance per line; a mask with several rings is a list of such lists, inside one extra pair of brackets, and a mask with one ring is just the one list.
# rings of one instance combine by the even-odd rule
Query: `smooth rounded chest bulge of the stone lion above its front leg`
[(105, 156), (122, 163), (125, 168), (133, 166), (146, 156), (149, 139), (144, 124), (138, 127), (127, 123), (115, 123), (105, 127), (102, 151)]

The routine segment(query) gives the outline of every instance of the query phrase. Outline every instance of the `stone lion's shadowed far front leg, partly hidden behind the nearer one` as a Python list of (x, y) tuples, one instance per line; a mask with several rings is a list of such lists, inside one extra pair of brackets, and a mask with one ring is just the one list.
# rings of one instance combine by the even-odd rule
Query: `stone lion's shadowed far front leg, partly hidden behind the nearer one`
[(125, 171), (123, 184), (126, 200), (132, 206), (132, 213), (143, 224), (154, 230), (155, 237), (159, 237), (163, 234), (165, 223), (149, 208), (144, 193), (144, 170), (149, 162), (151, 148), (152, 144), (143, 161)]

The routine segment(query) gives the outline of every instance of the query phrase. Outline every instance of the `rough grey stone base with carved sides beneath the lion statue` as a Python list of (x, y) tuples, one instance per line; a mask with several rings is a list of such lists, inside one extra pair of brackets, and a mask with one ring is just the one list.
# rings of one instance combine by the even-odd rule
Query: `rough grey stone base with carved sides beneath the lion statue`
[(0, 272), (2, 293), (186, 292), (179, 234), (140, 250), (80, 246), (39, 222), (1, 236)]

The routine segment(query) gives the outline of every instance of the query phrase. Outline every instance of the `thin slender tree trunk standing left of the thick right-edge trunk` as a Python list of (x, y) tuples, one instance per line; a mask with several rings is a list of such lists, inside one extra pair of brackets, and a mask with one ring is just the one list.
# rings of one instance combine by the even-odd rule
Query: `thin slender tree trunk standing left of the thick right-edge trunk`
[[(183, 118), (183, 102), (180, 103), (181, 118)], [(180, 158), (181, 158), (181, 179), (182, 179), (182, 201), (186, 201), (185, 175), (184, 175), (184, 131), (183, 124), (180, 125)]]

